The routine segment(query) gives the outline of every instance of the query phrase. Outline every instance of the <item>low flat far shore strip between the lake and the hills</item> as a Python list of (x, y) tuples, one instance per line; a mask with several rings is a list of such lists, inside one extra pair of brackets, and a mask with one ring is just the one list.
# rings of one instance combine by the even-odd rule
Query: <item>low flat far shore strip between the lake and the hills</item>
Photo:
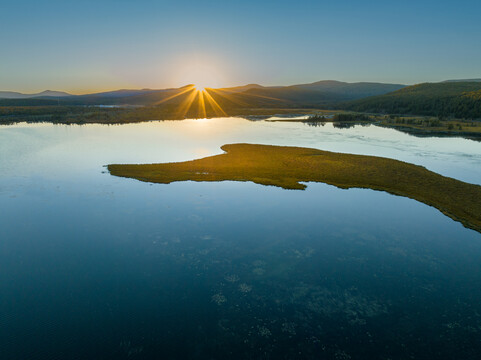
[[(352, 114), (349, 121), (337, 121), (340, 114)], [(356, 116), (362, 117), (361, 120)], [(248, 120), (273, 122), (302, 122), (311, 126), (325, 123), (340, 123), (336, 127), (346, 128), (356, 124), (373, 124), (396, 129), (414, 136), (464, 137), (481, 140), (481, 121), (446, 119), (414, 115), (364, 114), (344, 110), (315, 108), (252, 108), (233, 109), (226, 114), (206, 113), (202, 118), (242, 117)], [(304, 117), (304, 118), (296, 118)], [(199, 118), (197, 113), (180, 115), (170, 107), (98, 107), (98, 106), (20, 106), (0, 107), (0, 125), (15, 123), (52, 123), (52, 124), (130, 124), (147, 121), (173, 121)]]

